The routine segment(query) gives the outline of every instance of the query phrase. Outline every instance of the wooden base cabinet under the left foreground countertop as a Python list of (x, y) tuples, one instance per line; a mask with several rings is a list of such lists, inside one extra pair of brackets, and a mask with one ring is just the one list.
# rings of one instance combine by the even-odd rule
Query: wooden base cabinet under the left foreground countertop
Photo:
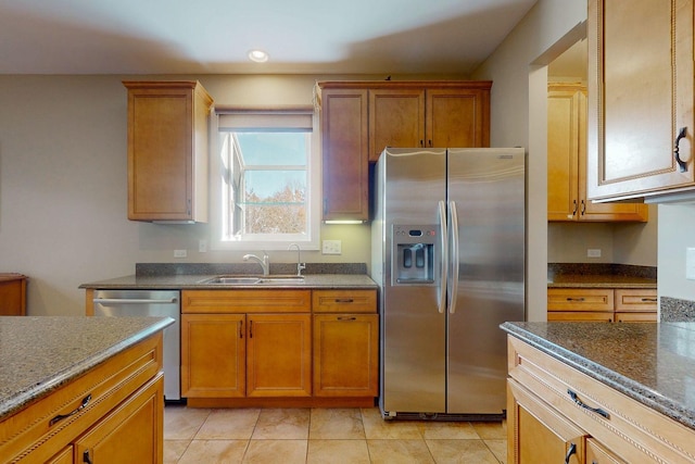
[(162, 463), (162, 334), (0, 423), (0, 461)]

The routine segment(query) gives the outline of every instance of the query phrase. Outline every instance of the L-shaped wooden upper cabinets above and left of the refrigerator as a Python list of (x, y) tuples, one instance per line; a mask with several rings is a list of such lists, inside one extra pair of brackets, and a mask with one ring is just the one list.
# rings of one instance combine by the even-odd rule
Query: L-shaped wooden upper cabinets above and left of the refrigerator
[(369, 220), (369, 162), (386, 147), (489, 147), (492, 83), (318, 83), (324, 221)]

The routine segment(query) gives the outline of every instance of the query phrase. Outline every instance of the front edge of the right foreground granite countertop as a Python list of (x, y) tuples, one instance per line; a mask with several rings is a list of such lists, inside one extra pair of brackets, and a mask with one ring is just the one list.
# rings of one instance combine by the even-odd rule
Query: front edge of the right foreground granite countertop
[[(559, 347), (542, 337), (531, 334), (515, 323), (506, 322), (500, 326), (504, 331), (541, 350), (543, 353), (567, 364), (570, 367), (601, 381), (602, 384), (619, 391), (635, 401), (650, 407), (688, 428), (695, 428), (695, 415), (686, 411), (682, 404), (667, 397), (655, 393), (642, 384), (626, 377), (615, 371), (608, 369), (584, 356)], [(617, 381), (614, 378), (619, 379)]]

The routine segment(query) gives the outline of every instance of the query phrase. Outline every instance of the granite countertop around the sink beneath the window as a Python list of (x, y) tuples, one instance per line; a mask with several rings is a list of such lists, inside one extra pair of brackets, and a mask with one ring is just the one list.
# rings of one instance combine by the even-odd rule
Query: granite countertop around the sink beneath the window
[[(376, 289), (377, 284), (366, 274), (306, 274), (304, 281), (250, 285), (205, 284), (204, 280), (217, 274), (181, 275), (130, 275), (108, 280), (83, 284), (79, 288), (91, 289), (220, 289), (220, 288), (357, 288)], [(273, 275), (270, 275), (273, 277)]]

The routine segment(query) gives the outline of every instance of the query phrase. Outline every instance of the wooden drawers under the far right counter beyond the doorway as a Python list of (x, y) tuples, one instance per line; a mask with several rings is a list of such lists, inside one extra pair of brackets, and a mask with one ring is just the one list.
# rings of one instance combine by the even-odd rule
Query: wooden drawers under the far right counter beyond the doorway
[(656, 289), (548, 288), (547, 321), (656, 322)]

